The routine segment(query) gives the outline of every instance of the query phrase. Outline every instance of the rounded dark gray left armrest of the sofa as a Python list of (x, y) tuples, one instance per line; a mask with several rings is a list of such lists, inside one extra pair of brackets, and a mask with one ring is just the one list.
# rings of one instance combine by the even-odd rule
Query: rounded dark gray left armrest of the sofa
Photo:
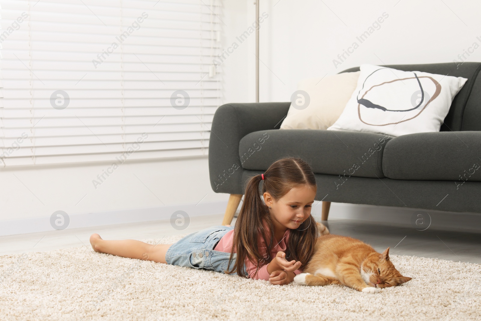
[(279, 129), (290, 105), (228, 103), (217, 108), (209, 139), (209, 177), (215, 193), (244, 193), (239, 142), (253, 131)]

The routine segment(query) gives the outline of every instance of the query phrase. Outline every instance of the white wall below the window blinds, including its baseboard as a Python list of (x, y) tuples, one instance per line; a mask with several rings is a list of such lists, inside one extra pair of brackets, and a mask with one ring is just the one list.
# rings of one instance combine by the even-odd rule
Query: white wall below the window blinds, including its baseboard
[(69, 228), (168, 219), (177, 210), (190, 217), (225, 210), (228, 194), (212, 190), (205, 156), (127, 160), (95, 188), (92, 180), (109, 166), (2, 169), (0, 235), (53, 230), (50, 217), (58, 210), (69, 215)]

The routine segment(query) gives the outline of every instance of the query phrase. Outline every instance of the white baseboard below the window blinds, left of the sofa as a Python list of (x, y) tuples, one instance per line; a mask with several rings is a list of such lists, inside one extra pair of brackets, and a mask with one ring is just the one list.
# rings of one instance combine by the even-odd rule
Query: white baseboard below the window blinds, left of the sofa
[[(220, 214), (226, 211), (226, 207), (227, 201), (222, 201), (202, 203), (198, 205), (185, 204), (95, 213), (69, 214), (70, 222), (67, 226), (67, 229), (155, 220), (169, 220), (172, 214), (178, 210), (185, 211), (190, 218), (203, 215), (212, 215), (215, 213)], [(221, 223), (222, 222), (219, 222), (219, 225)], [(0, 236), (43, 231), (55, 231), (50, 224), (50, 216), (0, 221)]]

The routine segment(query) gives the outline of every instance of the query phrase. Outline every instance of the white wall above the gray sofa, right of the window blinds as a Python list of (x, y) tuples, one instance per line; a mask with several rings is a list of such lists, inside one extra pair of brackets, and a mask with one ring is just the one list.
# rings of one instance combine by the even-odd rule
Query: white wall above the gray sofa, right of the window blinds
[[(260, 1), (260, 12), (269, 14), (260, 29), (261, 102), (289, 101), (297, 82), (303, 78), (333, 75), (363, 63), (460, 61), (458, 55), (474, 42), (481, 45), (481, 2), (475, 0)], [(224, 0), (226, 17), (236, 16), (235, 21), (224, 21), (228, 26), (225, 39), (229, 45), (228, 39), (234, 40), (255, 20), (253, 0), (242, 5), (241, 1), (233, 2), (236, 1)], [(234, 8), (235, 13), (228, 13)], [(360, 43), (356, 37), (367, 31), (384, 12), (389, 16), (379, 30), (374, 30)], [(238, 24), (244, 13), (241, 27)], [(252, 48), (240, 46), (224, 63), (229, 102), (255, 101), (255, 34), (251, 38), (248, 46)], [(333, 60), (354, 41), (359, 48), (336, 68)], [(481, 61), (481, 48), (465, 57), (466, 61)]]

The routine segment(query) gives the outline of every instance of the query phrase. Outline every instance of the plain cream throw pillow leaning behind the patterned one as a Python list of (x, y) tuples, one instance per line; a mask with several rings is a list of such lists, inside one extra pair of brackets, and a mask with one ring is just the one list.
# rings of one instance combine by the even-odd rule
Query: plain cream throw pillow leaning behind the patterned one
[(280, 129), (327, 129), (351, 98), (359, 74), (356, 71), (301, 80)]

